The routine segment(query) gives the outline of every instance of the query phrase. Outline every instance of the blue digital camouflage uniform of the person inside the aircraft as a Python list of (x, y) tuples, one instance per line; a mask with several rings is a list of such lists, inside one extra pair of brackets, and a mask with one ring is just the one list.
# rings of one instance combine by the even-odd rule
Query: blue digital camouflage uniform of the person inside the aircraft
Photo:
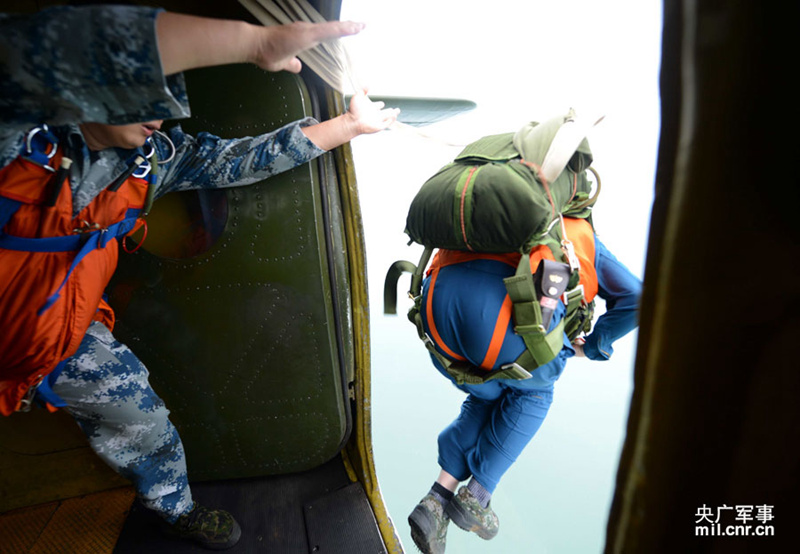
[[(90, 153), (79, 123), (189, 116), (182, 75), (165, 77), (161, 70), (157, 13), (88, 6), (0, 14), (0, 167), (20, 153), (32, 127), (49, 124), (74, 160), (69, 182), (77, 214), (127, 168), (131, 155), (113, 148)], [(254, 183), (306, 163), (323, 153), (301, 131), (314, 123), (306, 118), (230, 140), (175, 127), (169, 131), (175, 155), (159, 166), (156, 197)], [(172, 147), (160, 137), (154, 142), (158, 158), (168, 159)], [(1, 370), (2, 363), (0, 379)], [(169, 411), (150, 387), (147, 369), (106, 327), (89, 327), (51, 387), (95, 452), (131, 480), (145, 506), (169, 522), (192, 507), (183, 445)]]

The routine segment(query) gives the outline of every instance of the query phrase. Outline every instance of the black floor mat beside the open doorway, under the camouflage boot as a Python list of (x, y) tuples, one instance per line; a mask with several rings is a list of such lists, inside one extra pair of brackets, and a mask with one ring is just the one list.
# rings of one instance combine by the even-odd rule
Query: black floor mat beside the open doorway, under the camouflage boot
[[(369, 501), (351, 483), (339, 457), (308, 472), (192, 484), (196, 501), (230, 511), (242, 527), (231, 554), (385, 553)], [(208, 552), (170, 539), (149, 511), (134, 503), (115, 554)]]

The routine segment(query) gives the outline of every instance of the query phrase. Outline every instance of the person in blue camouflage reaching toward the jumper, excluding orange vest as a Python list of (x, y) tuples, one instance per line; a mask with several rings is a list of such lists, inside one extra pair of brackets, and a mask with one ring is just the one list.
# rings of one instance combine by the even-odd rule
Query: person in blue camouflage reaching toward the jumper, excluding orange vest
[[(383, 109), (364, 93), (354, 96), (346, 114), (322, 123), (306, 118), (241, 139), (195, 137), (176, 126), (166, 140), (159, 136), (163, 120), (190, 115), (181, 72), (237, 62), (298, 72), (298, 52), (360, 30), (351, 22), (261, 27), (133, 6), (0, 15), (0, 168), (19, 155), (33, 127), (46, 123), (73, 160), (73, 215), (123, 173), (132, 149), (154, 134), (157, 157), (165, 161), (156, 198), (263, 180), (387, 128), (397, 110)], [(0, 314), (0, 327), (7, 324)], [(2, 370), (0, 362), (0, 382)], [(236, 543), (241, 531), (230, 514), (192, 500), (169, 412), (150, 387), (147, 369), (106, 326), (89, 326), (51, 388), (92, 448), (131, 480), (168, 532), (215, 549)]]

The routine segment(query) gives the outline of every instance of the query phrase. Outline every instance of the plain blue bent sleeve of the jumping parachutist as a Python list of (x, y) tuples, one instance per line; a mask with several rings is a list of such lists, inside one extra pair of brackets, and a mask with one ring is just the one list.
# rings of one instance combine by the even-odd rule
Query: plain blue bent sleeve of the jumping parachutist
[(598, 296), (606, 303), (601, 315), (586, 337), (583, 351), (591, 360), (607, 360), (614, 353), (613, 344), (638, 324), (642, 282), (595, 238), (595, 269)]

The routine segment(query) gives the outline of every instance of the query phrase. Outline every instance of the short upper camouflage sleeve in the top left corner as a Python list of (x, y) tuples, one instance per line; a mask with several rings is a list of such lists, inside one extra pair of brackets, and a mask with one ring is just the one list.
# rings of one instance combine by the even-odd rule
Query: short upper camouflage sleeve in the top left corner
[(158, 13), (95, 5), (0, 16), (3, 132), (188, 117), (182, 75), (165, 77), (161, 68)]

